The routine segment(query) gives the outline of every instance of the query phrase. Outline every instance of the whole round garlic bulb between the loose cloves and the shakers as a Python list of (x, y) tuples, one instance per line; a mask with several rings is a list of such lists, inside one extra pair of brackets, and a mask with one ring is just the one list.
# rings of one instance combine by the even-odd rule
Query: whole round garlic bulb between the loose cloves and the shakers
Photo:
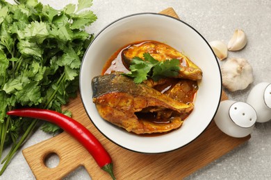
[(222, 84), (229, 91), (242, 90), (254, 80), (252, 66), (243, 58), (231, 58), (221, 68)]

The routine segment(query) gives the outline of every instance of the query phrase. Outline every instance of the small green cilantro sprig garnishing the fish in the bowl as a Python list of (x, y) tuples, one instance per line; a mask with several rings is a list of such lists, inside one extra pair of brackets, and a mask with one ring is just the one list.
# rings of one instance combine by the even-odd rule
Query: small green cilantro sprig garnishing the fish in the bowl
[(179, 60), (158, 61), (149, 53), (143, 54), (144, 60), (140, 57), (133, 57), (130, 72), (125, 75), (133, 78), (133, 81), (140, 83), (148, 78), (158, 81), (165, 77), (175, 77), (179, 74)]

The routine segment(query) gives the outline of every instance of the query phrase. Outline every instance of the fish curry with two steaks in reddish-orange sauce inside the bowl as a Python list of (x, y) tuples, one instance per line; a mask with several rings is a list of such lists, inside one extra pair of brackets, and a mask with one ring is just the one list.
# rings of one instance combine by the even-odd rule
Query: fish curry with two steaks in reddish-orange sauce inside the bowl
[[(139, 63), (140, 73), (134, 61), (147, 61), (145, 55), (164, 64), (175, 60), (178, 68), (168, 75), (163, 64), (158, 68), (165, 73), (135, 82), (131, 68)], [(92, 98), (104, 120), (135, 134), (161, 134), (181, 127), (192, 112), (200, 80), (202, 70), (183, 53), (161, 42), (135, 42), (117, 50), (92, 79)]]

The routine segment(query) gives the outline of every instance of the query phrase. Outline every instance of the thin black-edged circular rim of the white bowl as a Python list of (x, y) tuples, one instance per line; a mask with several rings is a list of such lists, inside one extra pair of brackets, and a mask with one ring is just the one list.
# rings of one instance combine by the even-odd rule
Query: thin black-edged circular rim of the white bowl
[(212, 123), (213, 121), (213, 118), (215, 117), (215, 114), (217, 113), (217, 110), (220, 106), (220, 102), (221, 102), (221, 98), (222, 98), (222, 74), (221, 74), (221, 69), (220, 69), (220, 64), (217, 60), (217, 57), (215, 56), (215, 53), (213, 52), (213, 49), (211, 48), (211, 46), (208, 44), (207, 40), (202, 36), (201, 33), (199, 33), (195, 28), (193, 28), (192, 26), (190, 26), (190, 24), (186, 23), (185, 21), (182, 21), (181, 19), (178, 19), (176, 17), (172, 17), (170, 15), (165, 15), (165, 14), (161, 14), (161, 13), (158, 13), (158, 12), (139, 12), (139, 13), (133, 13), (131, 15), (126, 15), (126, 16), (123, 16), (123, 17), (120, 17), (118, 19), (115, 19), (115, 21), (112, 21), (110, 22), (109, 24), (107, 24), (104, 28), (102, 28), (99, 33), (97, 33), (97, 35), (95, 35), (95, 37), (92, 39), (92, 42), (90, 42), (90, 44), (88, 45), (88, 48), (85, 50), (85, 53), (83, 55), (83, 58), (82, 58), (82, 61), (81, 61), (81, 66), (80, 66), (80, 73), (79, 73), (79, 91), (80, 91), (80, 95), (82, 94), (82, 88), (81, 88), (81, 69), (82, 69), (82, 64), (85, 60), (85, 56), (88, 52), (88, 49), (90, 48), (90, 46), (92, 45), (93, 42), (95, 42), (95, 39), (97, 39), (97, 37), (99, 37), (99, 35), (104, 31), (106, 30), (108, 27), (112, 26), (113, 24), (115, 24), (117, 21), (121, 21), (122, 19), (126, 19), (126, 18), (129, 18), (129, 17), (133, 17), (133, 16), (138, 16), (138, 15), (158, 15), (158, 16), (164, 16), (164, 17), (169, 17), (169, 18), (172, 18), (172, 19), (175, 19), (176, 21), (179, 21), (181, 22), (182, 24), (185, 24), (186, 26), (188, 26), (189, 28), (191, 28), (192, 30), (195, 31), (195, 33), (197, 33), (203, 40), (204, 42), (206, 42), (206, 45), (210, 48), (211, 52), (213, 53), (213, 56), (215, 57), (215, 62), (217, 63), (217, 68), (218, 68), (218, 71), (219, 71), (219, 74), (220, 74), (220, 98), (217, 102), (217, 107), (214, 111), (214, 114), (213, 114), (213, 117), (211, 118), (211, 120), (208, 122), (208, 125), (206, 125), (206, 127), (202, 130), (201, 133), (199, 133), (197, 136), (195, 136), (195, 138), (193, 138), (190, 142), (184, 144), (184, 145), (181, 145), (179, 147), (176, 147), (172, 150), (165, 150), (165, 151), (162, 151), (162, 152), (143, 152), (143, 151), (138, 151), (138, 150), (131, 150), (129, 149), (128, 147), (124, 147), (123, 145), (119, 144), (119, 143), (116, 143), (115, 141), (113, 141), (113, 139), (109, 138), (108, 136), (106, 136), (106, 134), (104, 134), (104, 132), (102, 132), (98, 127), (97, 125), (95, 124), (95, 122), (93, 122), (92, 118), (90, 118), (90, 114), (88, 113), (86, 107), (85, 107), (85, 103), (83, 101), (83, 98), (82, 96), (80, 96), (81, 98), (81, 102), (83, 104), (83, 107), (85, 109), (85, 112), (86, 114), (88, 115), (88, 118), (90, 118), (92, 124), (96, 127), (96, 129), (98, 129), (98, 131), (104, 136), (106, 137), (109, 141), (111, 141), (112, 143), (114, 143), (115, 145), (118, 145), (126, 150), (129, 150), (131, 152), (138, 152), (140, 154), (162, 154), (162, 153), (166, 153), (166, 152), (173, 152), (175, 150), (179, 150), (181, 149), (182, 147), (186, 147), (187, 145), (189, 145), (190, 143), (192, 143), (193, 141), (195, 141), (199, 136), (201, 136), (205, 131), (206, 129), (208, 128), (208, 126)]

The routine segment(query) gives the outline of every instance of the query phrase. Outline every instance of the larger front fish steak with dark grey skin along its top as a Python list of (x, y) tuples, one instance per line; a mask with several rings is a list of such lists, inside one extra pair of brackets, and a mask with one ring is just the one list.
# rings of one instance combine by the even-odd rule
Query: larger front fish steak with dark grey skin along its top
[[(136, 134), (176, 129), (183, 123), (181, 114), (194, 108), (192, 103), (174, 100), (144, 83), (136, 84), (120, 73), (93, 78), (92, 89), (92, 100), (101, 118)], [(144, 114), (152, 114), (153, 119), (144, 118)]]

